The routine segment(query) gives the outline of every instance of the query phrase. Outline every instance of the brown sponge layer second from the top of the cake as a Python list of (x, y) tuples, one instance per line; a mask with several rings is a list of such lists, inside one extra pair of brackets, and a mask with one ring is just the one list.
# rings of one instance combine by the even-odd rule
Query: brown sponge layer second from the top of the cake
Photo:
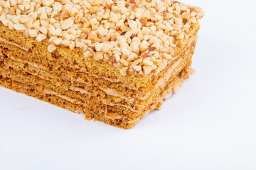
[[(194, 46), (195, 43), (196, 40), (194, 40), (194, 38), (191, 38), (188, 45), (192, 44)], [(49, 69), (48, 67), (42, 66), (40, 63), (34, 63), (24, 59), (26, 58), (26, 56), (24, 56), (25, 54), (18, 53), (17, 57), (17, 53), (14, 52), (19, 50), (18, 47), (14, 47), (13, 45), (6, 45), (6, 43), (2, 43), (0, 45), (4, 47), (6, 55), (9, 55), (9, 57), (11, 57), (13, 60), (25, 62), (26, 64), (28, 64), (28, 67), (32, 65), (33, 67), (31, 69), (33, 69), (33, 72), (34, 70), (39, 69), (39, 72), (43, 72), (43, 77), (46, 77), (47, 75), (52, 81), (54, 81), (53, 83), (57, 86), (63, 86), (63, 79), (65, 79), (71, 81), (71, 88), (75, 88), (75, 91), (82, 91), (82, 93), (87, 93), (88, 91), (94, 90), (99, 91), (98, 88), (100, 88), (100, 96), (113, 96), (112, 101), (117, 101), (122, 105), (125, 105), (128, 101), (129, 103), (132, 103), (132, 107), (137, 110), (140, 108), (136, 108), (136, 103), (142, 100), (146, 101), (147, 98), (150, 98), (150, 96), (152, 96), (156, 89), (160, 89), (161, 86), (165, 86), (166, 81), (171, 78), (171, 75), (174, 75), (178, 71), (178, 69), (181, 69), (181, 63), (179, 62), (181, 62), (181, 58), (184, 58), (189, 50), (186, 49), (184, 52), (181, 53), (181, 56), (178, 56), (176, 60), (172, 62), (172, 64), (169, 64), (169, 66), (166, 67), (165, 70), (163, 70), (164, 75), (161, 75), (161, 78), (157, 80), (156, 77), (154, 77), (155, 81), (152, 82), (151, 86), (148, 86), (144, 89), (141, 88), (139, 90), (133, 90), (129, 87), (124, 86), (124, 84), (121, 83), (114, 83), (106, 79), (97, 79), (96, 77), (88, 75), (85, 72), (81, 72), (80, 69), (73, 70), (66, 67), (61, 67), (59, 69)], [(6, 50), (6, 48), (8, 50)], [(21, 68), (23, 68), (23, 66), (21, 66)], [(38, 74), (38, 72), (36, 72), (36, 74)], [(59, 79), (59, 77), (62, 77), (63, 79)]]

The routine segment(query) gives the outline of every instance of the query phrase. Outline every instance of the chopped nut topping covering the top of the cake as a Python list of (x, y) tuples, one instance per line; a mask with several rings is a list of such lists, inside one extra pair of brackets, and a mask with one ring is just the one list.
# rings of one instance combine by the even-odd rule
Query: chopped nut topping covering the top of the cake
[(160, 72), (174, 57), (175, 40), (203, 16), (201, 8), (171, 0), (0, 0), (4, 26), (47, 40), (49, 52), (77, 48), (122, 75)]

